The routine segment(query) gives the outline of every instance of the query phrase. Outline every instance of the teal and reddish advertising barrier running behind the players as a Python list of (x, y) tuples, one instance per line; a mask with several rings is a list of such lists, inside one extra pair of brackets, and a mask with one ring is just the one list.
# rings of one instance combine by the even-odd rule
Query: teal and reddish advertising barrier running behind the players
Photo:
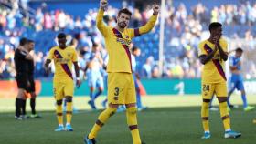
[[(199, 95), (200, 79), (142, 79), (141, 86), (143, 95), (158, 96), (182, 96), (182, 95)], [(36, 80), (36, 92), (40, 97), (52, 97), (52, 81)], [(256, 94), (256, 79), (246, 80), (244, 87), (249, 95)], [(17, 93), (15, 80), (0, 81), (0, 98), (15, 98)], [(75, 89), (76, 96), (89, 96), (87, 81), (83, 81), (80, 88)], [(104, 91), (106, 95), (106, 90)]]

